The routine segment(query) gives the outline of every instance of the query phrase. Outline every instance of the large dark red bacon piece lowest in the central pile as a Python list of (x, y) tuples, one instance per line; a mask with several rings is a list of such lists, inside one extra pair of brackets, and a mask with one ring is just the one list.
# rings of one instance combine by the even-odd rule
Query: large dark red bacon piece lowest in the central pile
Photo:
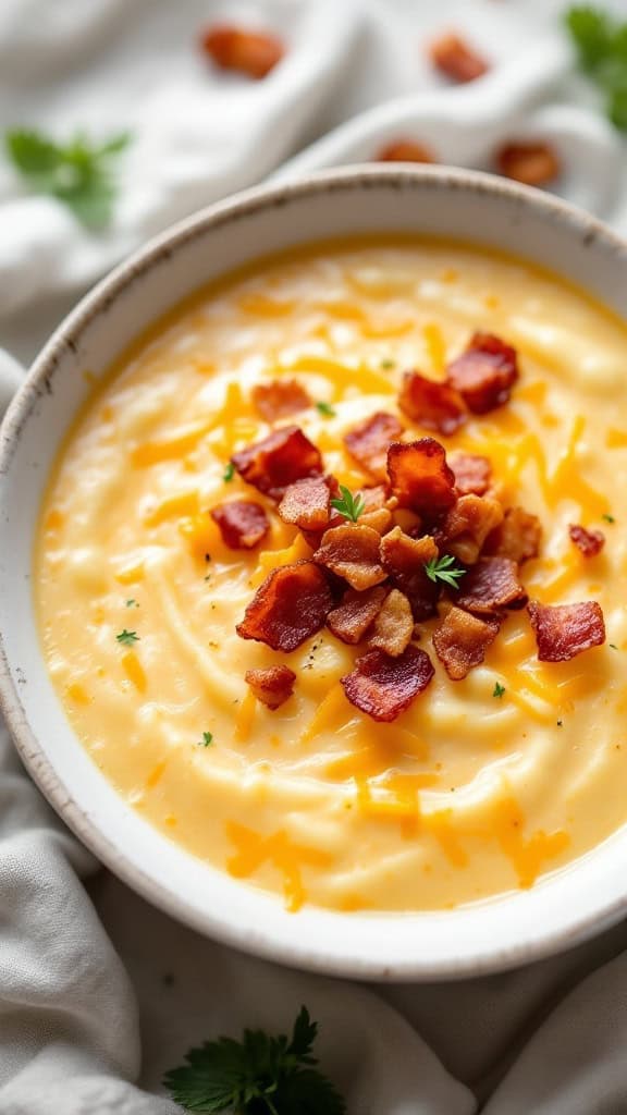
[(398, 658), (369, 650), (340, 680), (353, 705), (373, 720), (388, 724), (426, 689), (434, 672), (428, 655), (411, 643)]

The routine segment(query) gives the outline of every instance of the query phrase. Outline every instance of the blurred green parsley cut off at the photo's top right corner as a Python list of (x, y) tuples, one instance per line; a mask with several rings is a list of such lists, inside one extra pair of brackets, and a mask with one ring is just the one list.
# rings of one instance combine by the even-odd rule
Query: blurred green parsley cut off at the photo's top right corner
[(599, 86), (607, 116), (627, 130), (627, 22), (594, 4), (575, 4), (566, 12), (579, 65)]

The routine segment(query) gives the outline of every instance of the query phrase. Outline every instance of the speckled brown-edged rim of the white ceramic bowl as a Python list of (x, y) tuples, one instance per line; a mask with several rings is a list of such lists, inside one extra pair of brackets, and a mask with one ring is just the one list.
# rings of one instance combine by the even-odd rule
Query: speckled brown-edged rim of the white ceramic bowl
[[(179, 248), (199, 233), (231, 224), (242, 216), (286, 205), (293, 198), (335, 193), (344, 190), (370, 188), (394, 185), (397, 188), (414, 184), (438, 190), (459, 190), (464, 194), (489, 197), (504, 197), (522, 210), (541, 210), (567, 225), (572, 235), (582, 243), (601, 241), (609, 251), (619, 253), (626, 261), (627, 242), (607, 227), (601, 221), (562, 200), (527, 186), (476, 171), (465, 171), (443, 166), (409, 165), (353, 165), (331, 171), (319, 171), (296, 181), (281, 181), (273, 185), (255, 186), (243, 191), (228, 201), (219, 202), (176, 223), (165, 232), (149, 240), (143, 248), (116, 266), (98, 282), (65, 318), (35, 360), (23, 385), (13, 397), (0, 427), (0, 477), (9, 468), (20, 434), (28, 423), (30, 413), (44, 391), (50, 391), (51, 379), (62, 355), (69, 349), (77, 351), (77, 342), (83, 331), (95, 316), (107, 308), (123, 292), (157, 262), (167, 260)], [(471, 239), (471, 237), (469, 237)], [(524, 258), (524, 251), (520, 253)], [(251, 259), (254, 252), (251, 252)], [(99, 831), (86, 815), (80, 802), (75, 801), (57, 775), (52, 763), (44, 752), (30, 728), (21, 705), (19, 689), (11, 675), (3, 632), (0, 630), (0, 710), (4, 715), (17, 749), (45, 797), (76, 836), (129, 888), (156, 908), (191, 928), (219, 940), (224, 944), (253, 953), (282, 964), (293, 966), (331, 976), (368, 978), (382, 982), (406, 980), (427, 981), (434, 979), (457, 979), (480, 976), (541, 960), (550, 954), (565, 951), (616, 923), (627, 913), (627, 879), (625, 892), (617, 899), (598, 903), (585, 914), (572, 912), (568, 925), (537, 938), (507, 947), (495, 943), (492, 951), (482, 950), (476, 956), (451, 957), (447, 962), (430, 962), (428, 957), (403, 961), (389, 958), (380, 961), (349, 963), (345, 960), (320, 953), (314, 942), (300, 946), (295, 933), (293, 947), (286, 950), (271, 938), (255, 933), (250, 925), (226, 924), (212, 911), (199, 913), (174, 890), (160, 885), (144, 871), (131, 863), (124, 849), (116, 846)], [(578, 861), (576, 861), (578, 862)], [(244, 884), (245, 885), (245, 884)], [(389, 914), (388, 914), (389, 915)], [(344, 917), (344, 915), (343, 915)], [(347, 914), (346, 917), (350, 917)], [(402, 915), (404, 917), (404, 915)], [(295, 922), (295, 925), (297, 923)]]

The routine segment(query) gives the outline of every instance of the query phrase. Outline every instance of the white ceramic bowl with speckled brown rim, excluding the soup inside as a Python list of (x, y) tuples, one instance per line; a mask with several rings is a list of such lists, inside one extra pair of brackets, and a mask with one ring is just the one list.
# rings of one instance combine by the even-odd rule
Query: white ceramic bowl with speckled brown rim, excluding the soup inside
[(95, 854), (173, 917), (229, 944), (303, 968), (382, 980), (479, 975), (568, 948), (627, 912), (627, 827), (530, 891), (423, 914), (287, 913), (171, 843), (84, 752), (52, 688), (31, 595), (39, 506), (89, 387), (147, 324), (241, 263), (303, 241), (426, 232), (496, 245), (561, 272), (627, 317), (627, 244), (561, 202), (488, 175), (357, 167), (261, 187), (153, 241), (57, 330), (6, 417), (0, 447), (0, 697), (21, 756)]

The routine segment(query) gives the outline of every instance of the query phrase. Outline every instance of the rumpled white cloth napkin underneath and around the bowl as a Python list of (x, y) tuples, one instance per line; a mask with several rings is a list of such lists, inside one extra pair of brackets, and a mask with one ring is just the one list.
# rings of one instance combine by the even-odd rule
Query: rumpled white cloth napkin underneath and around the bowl
[[(572, 76), (558, 0), (1, 0), (0, 128), (131, 128), (110, 232), (32, 197), (0, 158), (0, 339), (21, 361), (110, 264), (173, 220), (272, 172), (369, 158), (409, 136), (489, 167), (547, 136), (566, 196), (627, 231), (623, 142)], [(625, 12), (625, 0), (616, 0)], [(289, 41), (266, 81), (196, 49), (219, 17)], [(494, 64), (454, 89), (422, 43), (454, 27)], [(0, 410), (19, 366), (0, 351)], [(482, 980), (365, 989), (213, 944), (98, 871), (0, 727), (0, 1115), (166, 1115), (163, 1073), (306, 1002), (350, 1115), (627, 1112), (627, 930)]]

